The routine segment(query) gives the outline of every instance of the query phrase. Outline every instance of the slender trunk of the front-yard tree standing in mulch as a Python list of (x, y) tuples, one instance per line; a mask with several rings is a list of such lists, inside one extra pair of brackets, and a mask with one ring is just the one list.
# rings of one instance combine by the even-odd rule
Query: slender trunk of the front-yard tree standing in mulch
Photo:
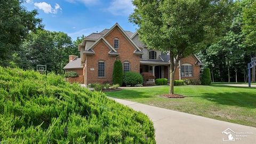
[(174, 57), (173, 54), (170, 53), (170, 90), (169, 94), (173, 94), (174, 88)]

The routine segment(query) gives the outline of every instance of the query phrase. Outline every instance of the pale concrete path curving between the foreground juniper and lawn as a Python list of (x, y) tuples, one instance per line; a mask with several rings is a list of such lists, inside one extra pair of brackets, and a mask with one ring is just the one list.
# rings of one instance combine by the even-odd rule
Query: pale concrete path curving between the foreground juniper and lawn
[[(218, 121), (127, 100), (111, 99), (148, 115), (154, 122), (157, 143), (256, 143), (255, 127)], [(228, 128), (236, 132), (233, 133), (228, 130), (235, 139), (233, 142), (222, 141), (222, 138), (228, 140), (227, 134), (222, 133)], [(249, 134), (242, 133), (241, 135), (241, 132)], [(236, 134), (240, 137), (236, 137)], [(241, 138), (241, 140), (236, 138)]]

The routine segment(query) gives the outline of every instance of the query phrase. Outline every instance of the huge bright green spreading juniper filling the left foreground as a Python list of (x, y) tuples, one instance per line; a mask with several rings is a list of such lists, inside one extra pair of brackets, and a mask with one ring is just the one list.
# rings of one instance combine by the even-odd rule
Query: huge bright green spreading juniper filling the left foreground
[(0, 67), (0, 143), (155, 143), (149, 118), (63, 77)]

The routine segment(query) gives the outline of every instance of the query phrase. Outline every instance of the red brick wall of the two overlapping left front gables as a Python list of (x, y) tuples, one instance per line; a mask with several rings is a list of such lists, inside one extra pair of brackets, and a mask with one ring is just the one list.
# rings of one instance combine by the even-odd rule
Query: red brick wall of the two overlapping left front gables
[[(114, 38), (119, 39), (119, 53), (118, 60), (130, 62), (130, 70), (139, 73), (140, 70), (140, 57), (134, 55), (134, 47), (130, 42), (122, 35), (121, 31), (116, 27), (111, 31), (105, 39), (114, 47)], [(86, 57), (87, 65), (87, 84), (90, 83), (103, 83), (111, 82), (115, 57), (110, 57), (108, 52), (109, 48), (102, 42), (102, 40), (93, 48), (95, 54), (93, 56)], [(98, 77), (98, 61), (105, 61), (105, 77)], [(90, 70), (94, 68), (94, 70)]]

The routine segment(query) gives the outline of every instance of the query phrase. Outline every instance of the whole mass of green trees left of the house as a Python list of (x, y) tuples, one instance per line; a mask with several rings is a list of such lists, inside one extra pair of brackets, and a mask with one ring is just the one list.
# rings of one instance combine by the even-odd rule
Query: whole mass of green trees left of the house
[(76, 41), (61, 31), (44, 29), (36, 10), (27, 11), (23, 1), (4, 0), (0, 3), (0, 66), (36, 69), (46, 65), (47, 70), (63, 74), (68, 55), (79, 54)]

